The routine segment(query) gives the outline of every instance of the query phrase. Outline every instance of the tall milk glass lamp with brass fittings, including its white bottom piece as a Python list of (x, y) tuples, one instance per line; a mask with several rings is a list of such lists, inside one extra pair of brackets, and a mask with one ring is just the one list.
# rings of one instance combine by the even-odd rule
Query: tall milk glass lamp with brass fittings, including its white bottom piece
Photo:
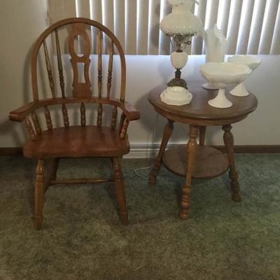
[(191, 10), (195, 0), (168, 0), (172, 6), (172, 13), (160, 22), (160, 29), (173, 38), (174, 52), (170, 57), (172, 66), (176, 69), (175, 78), (167, 83), (167, 89), (161, 94), (162, 102), (170, 105), (184, 105), (190, 103), (193, 95), (188, 91), (186, 80), (181, 78), (181, 69), (188, 61), (185, 52), (186, 45), (190, 44), (190, 38), (202, 31), (200, 18)]

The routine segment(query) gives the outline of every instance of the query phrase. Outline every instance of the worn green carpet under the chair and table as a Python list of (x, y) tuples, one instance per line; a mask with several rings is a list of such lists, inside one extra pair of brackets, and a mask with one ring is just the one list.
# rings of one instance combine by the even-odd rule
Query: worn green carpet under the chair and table
[[(52, 186), (43, 230), (32, 224), (34, 162), (0, 158), (0, 279), (280, 279), (280, 155), (237, 155), (241, 203), (228, 174), (194, 180), (190, 219), (179, 219), (183, 178), (157, 186), (123, 160), (130, 225), (112, 183)], [(107, 160), (62, 160), (58, 178), (111, 174)]]

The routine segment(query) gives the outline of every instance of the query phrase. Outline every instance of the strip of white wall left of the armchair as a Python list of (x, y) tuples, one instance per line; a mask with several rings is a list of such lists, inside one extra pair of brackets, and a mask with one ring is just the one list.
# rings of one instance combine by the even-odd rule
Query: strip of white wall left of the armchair
[(21, 146), (22, 125), (8, 112), (29, 101), (29, 52), (45, 29), (45, 0), (0, 1), (0, 147)]

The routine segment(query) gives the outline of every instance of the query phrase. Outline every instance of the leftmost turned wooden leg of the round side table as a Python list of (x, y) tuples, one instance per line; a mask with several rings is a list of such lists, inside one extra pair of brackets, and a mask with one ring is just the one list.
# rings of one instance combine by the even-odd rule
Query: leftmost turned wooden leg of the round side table
[(168, 123), (165, 125), (165, 130), (163, 132), (162, 143), (160, 144), (160, 151), (158, 152), (158, 156), (155, 158), (155, 163), (153, 165), (153, 169), (151, 170), (151, 174), (149, 176), (149, 183), (151, 185), (155, 185), (157, 183), (157, 176), (160, 172), (160, 166), (162, 165), (162, 156), (165, 153), (165, 148), (167, 146), (168, 140), (171, 137), (173, 132), (173, 121), (168, 120)]

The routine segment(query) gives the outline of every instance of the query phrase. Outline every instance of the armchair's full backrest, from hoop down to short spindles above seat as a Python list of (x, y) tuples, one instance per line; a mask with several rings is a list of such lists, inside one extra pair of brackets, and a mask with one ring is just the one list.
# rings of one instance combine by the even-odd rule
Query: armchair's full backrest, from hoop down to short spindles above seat
[[(61, 48), (62, 42), (59, 42), (59, 36), (65, 37), (65, 28), (67, 29), (69, 35), (66, 38), (66, 45), (68, 45), (69, 54), (66, 58), (70, 57), (71, 64), (68, 65), (72, 69), (73, 80), (71, 81), (71, 92), (67, 90), (65, 80), (65, 67), (64, 65), (64, 48)], [(90, 55), (92, 54), (92, 44), (90, 42), (89, 34), (91, 29), (95, 30), (97, 34), (97, 92), (93, 92), (93, 87), (91, 83), (92, 77), (90, 77)], [(63, 30), (63, 31), (62, 31)], [(90, 32), (88, 32), (90, 31)], [(60, 32), (60, 33), (59, 33)], [(106, 34), (107, 45), (108, 45), (108, 71), (106, 76), (102, 70), (105, 69), (104, 63), (102, 63), (103, 52), (103, 35)], [(48, 39), (48, 41), (47, 41)], [(83, 52), (82, 54), (76, 51), (77, 41), (82, 45), (83, 42)], [(50, 43), (52, 42), (52, 44)], [(64, 42), (63, 42), (64, 43)], [(52, 46), (52, 52), (50, 52), (50, 46)], [(40, 58), (43, 54), (45, 61), (45, 69), (48, 76), (47, 83), (49, 84), (50, 98), (41, 99), (38, 90), (38, 65), (40, 65)], [(112, 87), (112, 73), (113, 73), (113, 57), (114, 54), (118, 53), (120, 57), (120, 92), (119, 97), (111, 97), (111, 87)], [(50, 55), (51, 54), (51, 55)], [(53, 63), (55, 61), (55, 63)], [(103, 61), (104, 62), (104, 61)], [(80, 81), (80, 71), (79, 66), (83, 64), (83, 80)], [(102, 69), (103, 68), (103, 69)], [(106, 80), (106, 88), (102, 91), (102, 78)], [(48, 130), (52, 130), (52, 119), (48, 106), (62, 104), (62, 118), (64, 127), (69, 127), (69, 118), (67, 113), (66, 104), (80, 104), (80, 125), (84, 126), (86, 124), (86, 113), (85, 113), (85, 103), (98, 104), (97, 110), (97, 126), (102, 126), (102, 114), (103, 105), (108, 104), (113, 107), (111, 114), (111, 128), (115, 129), (118, 123), (118, 106), (121, 102), (125, 102), (125, 85), (126, 85), (126, 66), (125, 66), (125, 55), (123, 48), (118, 41), (118, 38), (104, 25), (96, 22), (94, 20), (89, 20), (86, 18), (68, 18), (66, 20), (61, 20), (55, 24), (45, 29), (41, 36), (37, 39), (33, 52), (31, 53), (31, 82), (33, 90), (34, 102), (40, 104), (38, 108), (44, 107), (45, 123)], [(69, 83), (69, 82), (68, 82)], [(105, 96), (102, 96), (102, 92), (106, 92)], [(69, 96), (71, 93), (71, 96)], [(41, 127), (38, 121), (36, 113), (31, 114), (36, 134), (41, 134)], [(120, 126), (123, 125), (125, 116), (120, 118)], [(28, 118), (25, 120), (27, 128), (31, 131), (31, 125)], [(32, 131), (31, 131), (32, 132)], [(30, 134), (30, 133), (29, 133)], [(32, 134), (32, 133), (31, 133)], [(33, 133), (34, 134), (34, 133)], [(36, 138), (36, 137), (31, 137)]]

